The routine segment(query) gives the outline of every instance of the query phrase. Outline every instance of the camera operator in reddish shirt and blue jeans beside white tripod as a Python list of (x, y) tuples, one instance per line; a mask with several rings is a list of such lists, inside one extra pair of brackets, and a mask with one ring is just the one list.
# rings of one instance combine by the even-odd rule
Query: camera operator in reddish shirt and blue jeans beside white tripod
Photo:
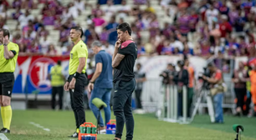
[(211, 76), (203, 75), (202, 78), (210, 83), (210, 92), (214, 102), (215, 122), (223, 123), (223, 92), (225, 92), (225, 86), (223, 85), (222, 71), (215, 67), (213, 63), (209, 63), (207, 68)]

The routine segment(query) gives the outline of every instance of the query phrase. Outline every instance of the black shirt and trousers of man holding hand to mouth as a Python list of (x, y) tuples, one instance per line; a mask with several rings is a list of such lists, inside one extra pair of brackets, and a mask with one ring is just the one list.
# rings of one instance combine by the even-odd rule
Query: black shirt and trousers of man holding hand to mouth
[[(127, 46), (123, 46), (126, 44)], [(136, 87), (133, 67), (137, 58), (135, 42), (128, 40), (122, 43), (118, 53), (125, 55), (114, 70), (113, 110), (116, 117), (115, 138), (121, 138), (124, 124), (126, 125), (126, 140), (133, 138), (134, 119), (131, 112), (131, 95)]]

